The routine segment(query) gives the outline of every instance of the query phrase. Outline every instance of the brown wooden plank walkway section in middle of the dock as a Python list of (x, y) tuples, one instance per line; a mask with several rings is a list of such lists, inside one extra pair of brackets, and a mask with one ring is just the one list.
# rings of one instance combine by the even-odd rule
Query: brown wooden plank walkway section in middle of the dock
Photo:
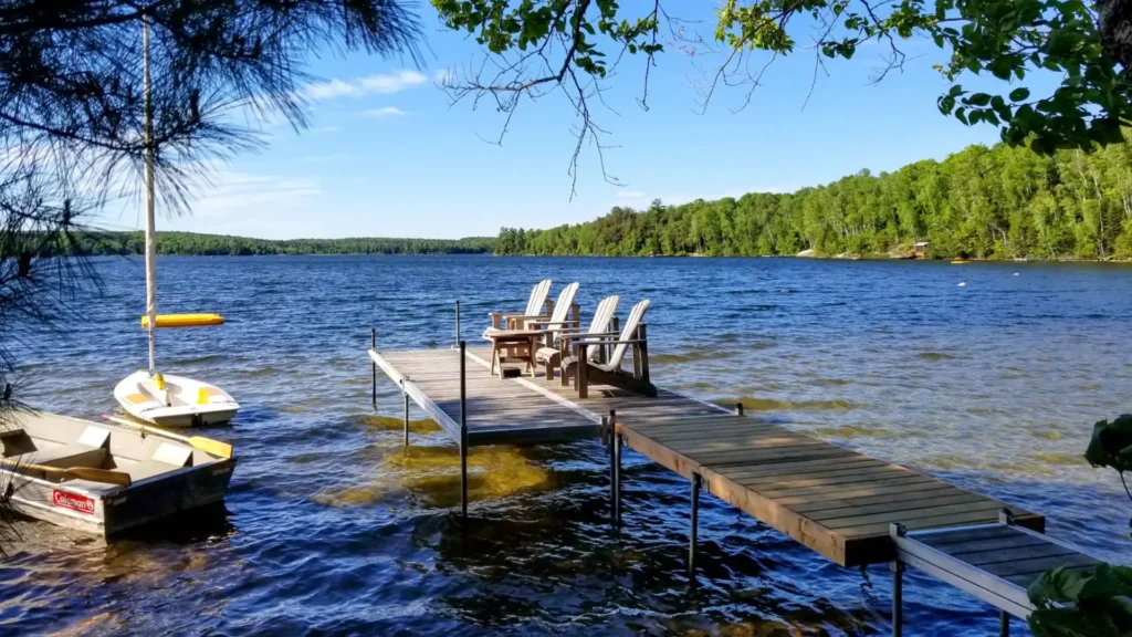
[(908, 529), (993, 523), (1007, 508), (1015, 524), (1045, 525), (1019, 507), (743, 416), (617, 421), (631, 449), (844, 567), (892, 560), (897, 521)]

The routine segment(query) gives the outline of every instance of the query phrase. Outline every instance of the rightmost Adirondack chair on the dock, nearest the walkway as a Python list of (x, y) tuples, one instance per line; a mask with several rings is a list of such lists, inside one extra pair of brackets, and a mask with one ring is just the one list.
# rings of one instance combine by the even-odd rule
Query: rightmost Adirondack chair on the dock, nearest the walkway
[[(657, 388), (649, 382), (649, 340), (645, 337), (644, 313), (652, 303), (649, 299), (633, 306), (625, 328), (620, 334), (606, 332), (601, 334), (565, 334), (561, 338), (573, 341), (574, 355), (563, 359), (563, 372), (574, 379), (577, 397), (589, 396), (590, 382), (627, 389), (645, 396), (657, 396)], [(608, 340), (616, 336), (617, 340)], [(590, 359), (589, 348), (611, 345), (614, 351), (608, 363), (595, 363)], [(628, 347), (633, 346), (633, 372), (621, 370), (621, 360)]]

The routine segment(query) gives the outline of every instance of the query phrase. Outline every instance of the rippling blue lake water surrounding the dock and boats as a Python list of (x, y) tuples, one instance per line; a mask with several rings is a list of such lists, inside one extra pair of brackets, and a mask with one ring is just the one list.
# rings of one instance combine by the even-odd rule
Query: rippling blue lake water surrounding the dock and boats
[[(40, 408), (97, 418), (145, 366), (142, 262), (97, 270), (101, 296), (16, 348)], [(886, 634), (886, 567), (832, 566), (713, 496), (689, 588), (687, 482), (628, 452), (615, 534), (597, 441), (473, 449), (461, 532), (455, 445), (420, 422), (404, 450), (384, 376), (372, 409), (369, 330), (384, 349), (446, 347), (454, 300), (471, 339), (544, 277), (552, 295), (581, 282), (583, 316), (609, 294), (623, 316), (651, 298), (659, 384), (1018, 502), (1129, 562), (1132, 502), (1081, 457), (1095, 421), (1132, 411), (1129, 266), (400, 256), (158, 271), (162, 312), (228, 318), (157, 342), (160, 368), (243, 406), (205, 432), (241, 457), (225, 509), (109, 544), (20, 524), (0, 632)], [(907, 581), (907, 634), (996, 630), (964, 594)]]

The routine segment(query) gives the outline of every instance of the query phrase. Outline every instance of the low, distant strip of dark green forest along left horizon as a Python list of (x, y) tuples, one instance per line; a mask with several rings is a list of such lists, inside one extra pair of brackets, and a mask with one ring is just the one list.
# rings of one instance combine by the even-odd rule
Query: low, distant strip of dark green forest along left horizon
[[(89, 255), (145, 254), (145, 233), (87, 232), (77, 238), (78, 252)], [(157, 232), (157, 254), (164, 255), (280, 255), (280, 254), (486, 254), (491, 237), (465, 239), (249, 239), (196, 232)]]

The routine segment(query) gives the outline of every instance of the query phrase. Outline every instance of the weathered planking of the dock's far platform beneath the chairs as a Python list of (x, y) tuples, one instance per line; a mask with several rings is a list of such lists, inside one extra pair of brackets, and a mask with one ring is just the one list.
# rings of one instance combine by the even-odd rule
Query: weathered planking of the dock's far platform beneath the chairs
[[(468, 443), (525, 444), (597, 438), (604, 418), (618, 419), (726, 416), (728, 410), (679, 393), (660, 390), (654, 398), (608, 385), (591, 385), (590, 397), (576, 398), (560, 380), (491, 374), (489, 347), (465, 353)], [(460, 353), (456, 349), (369, 350), (385, 372), (430, 418), (460, 440)], [(511, 366), (509, 364), (507, 366)]]

